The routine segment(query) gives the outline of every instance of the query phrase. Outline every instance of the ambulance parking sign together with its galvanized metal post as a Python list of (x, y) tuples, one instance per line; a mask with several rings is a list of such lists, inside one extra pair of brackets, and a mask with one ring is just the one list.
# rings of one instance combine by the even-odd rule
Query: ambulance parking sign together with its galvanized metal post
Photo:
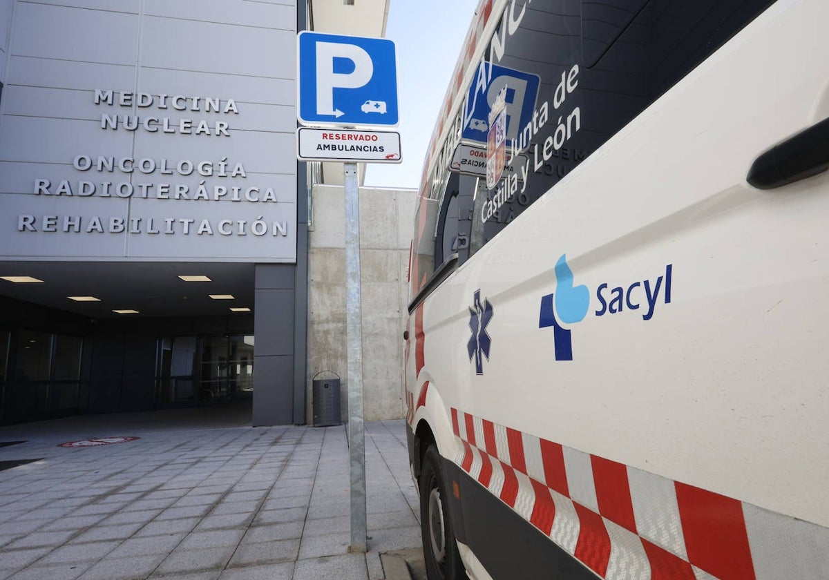
[[(360, 201), (356, 162), (400, 163), (395, 44), (302, 31), (297, 36), (297, 158), (345, 163), (348, 448), (351, 545), (366, 552), (366, 433), (362, 399)], [(342, 66), (350, 61), (351, 66)], [(323, 130), (322, 127), (329, 129)], [(360, 127), (360, 128), (357, 128)]]

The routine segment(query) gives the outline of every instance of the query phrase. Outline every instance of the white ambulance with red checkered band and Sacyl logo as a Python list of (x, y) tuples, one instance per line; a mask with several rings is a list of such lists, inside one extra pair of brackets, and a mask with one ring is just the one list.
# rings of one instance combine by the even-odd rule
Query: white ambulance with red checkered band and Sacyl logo
[(482, 0), (441, 110), (429, 578), (827, 580), (829, 2)]

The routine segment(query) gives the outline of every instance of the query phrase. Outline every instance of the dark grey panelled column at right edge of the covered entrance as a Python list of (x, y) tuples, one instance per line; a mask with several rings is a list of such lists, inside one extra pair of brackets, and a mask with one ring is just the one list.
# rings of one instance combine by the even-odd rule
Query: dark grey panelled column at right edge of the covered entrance
[(293, 424), (293, 264), (256, 264), (254, 426)]

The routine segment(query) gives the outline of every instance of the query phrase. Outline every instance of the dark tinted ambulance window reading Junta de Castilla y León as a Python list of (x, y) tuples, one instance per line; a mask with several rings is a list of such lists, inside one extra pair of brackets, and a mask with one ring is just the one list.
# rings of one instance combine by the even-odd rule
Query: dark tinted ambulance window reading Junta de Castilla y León
[(464, 109), (464, 138), (486, 147), (491, 104), (507, 86), (513, 158), (495, 186), (478, 191), (472, 252), (541, 196), (555, 195), (559, 181), (773, 1), (533, 0), (508, 7)]

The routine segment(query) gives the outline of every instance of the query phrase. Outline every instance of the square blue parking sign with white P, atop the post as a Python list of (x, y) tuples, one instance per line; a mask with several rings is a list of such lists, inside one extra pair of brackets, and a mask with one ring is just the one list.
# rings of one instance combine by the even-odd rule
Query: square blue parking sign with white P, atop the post
[(297, 53), (300, 123), (399, 123), (394, 42), (303, 31)]

